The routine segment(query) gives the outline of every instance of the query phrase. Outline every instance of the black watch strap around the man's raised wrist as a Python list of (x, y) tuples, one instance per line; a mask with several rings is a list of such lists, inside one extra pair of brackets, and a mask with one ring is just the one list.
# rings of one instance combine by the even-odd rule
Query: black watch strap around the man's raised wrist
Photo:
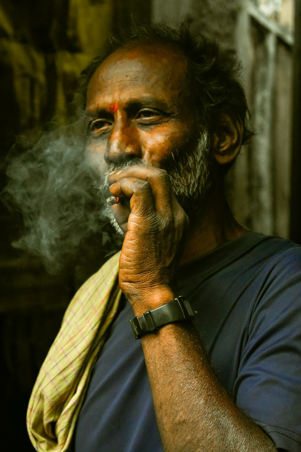
[(179, 322), (181, 320), (192, 320), (194, 313), (187, 300), (177, 297), (153, 311), (146, 311), (140, 317), (130, 320), (135, 339), (139, 339), (146, 333), (157, 330), (167, 323)]

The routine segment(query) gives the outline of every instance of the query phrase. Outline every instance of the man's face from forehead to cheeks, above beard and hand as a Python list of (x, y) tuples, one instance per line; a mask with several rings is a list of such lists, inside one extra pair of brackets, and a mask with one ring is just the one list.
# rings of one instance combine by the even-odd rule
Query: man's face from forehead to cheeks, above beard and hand
[(119, 50), (94, 73), (87, 93), (88, 157), (101, 173), (133, 158), (164, 167), (198, 138), (184, 95), (185, 60), (168, 46)]

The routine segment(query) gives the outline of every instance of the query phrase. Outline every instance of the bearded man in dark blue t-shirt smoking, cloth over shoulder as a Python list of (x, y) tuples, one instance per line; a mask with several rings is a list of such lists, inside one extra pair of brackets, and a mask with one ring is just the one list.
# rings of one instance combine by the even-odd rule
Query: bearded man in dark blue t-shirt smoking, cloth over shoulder
[(225, 169), (248, 135), (233, 61), (162, 27), (86, 81), (87, 159), (107, 174), (125, 235), (66, 312), (29, 405), (32, 442), (301, 451), (301, 252), (247, 231), (227, 205)]

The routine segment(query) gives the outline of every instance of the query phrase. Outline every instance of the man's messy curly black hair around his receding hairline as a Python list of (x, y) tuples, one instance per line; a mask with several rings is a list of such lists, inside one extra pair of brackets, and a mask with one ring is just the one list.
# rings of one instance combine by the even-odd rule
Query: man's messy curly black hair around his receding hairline
[(223, 49), (217, 42), (201, 34), (195, 35), (187, 24), (181, 24), (178, 28), (166, 24), (134, 26), (121, 32), (119, 38), (111, 38), (110, 49), (94, 58), (79, 78), (81, 106), (84, 107), (92, 75), (107, 56), (122, 48), (150, 43), (169, 45), (185, 57), (186, 95), (209, 136), (218, 122), (219, 114), (225, 111), (241, 121), (242, 143), (253, 135), (248, 129), (249, 110), (244, 90), (238, 81), (241, 66), (235, 52)]

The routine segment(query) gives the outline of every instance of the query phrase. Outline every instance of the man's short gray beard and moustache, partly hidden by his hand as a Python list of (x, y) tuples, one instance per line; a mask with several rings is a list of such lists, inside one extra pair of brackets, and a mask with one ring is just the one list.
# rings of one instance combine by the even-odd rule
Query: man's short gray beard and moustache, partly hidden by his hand
[[(137, 165), (137, 163), (143, 164), (142, 160), (133, 159), (122, 165), (111, 165), (100, 189), (109, 193), (108, 174), (126, 165)], [(208, 134), (206, 132), (201, 134), (197, 146), (190, 154), (176, 151), (171, 154), (170, 159), (162, 167), (169, 174), (171, 190), (176, 195), (179, 204), (187, 213), (190, 221), (195, 221), (203, 211), (204, 202), (211, 187)], [(109, 205), (106, 206), (106, 214), (114, 229), (124, 235)]]

